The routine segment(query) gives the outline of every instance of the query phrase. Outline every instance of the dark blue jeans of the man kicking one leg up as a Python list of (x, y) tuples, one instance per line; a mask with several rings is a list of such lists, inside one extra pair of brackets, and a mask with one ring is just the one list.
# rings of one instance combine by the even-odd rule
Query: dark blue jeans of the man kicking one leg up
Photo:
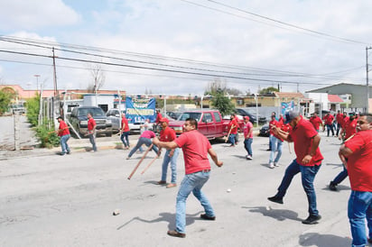
[(309, 202), (309, 210), (308, 210), (309, 214), (319, 215), (319, 212), (316, 206), (316, 195), (315, 195), (315, 189), (314, 189), (313, 182), (314, 182), (315, 175), (317, 174), (320, 168), (321, 168), (321, 165), (313, 166), (313, 167), (305, 167), (297, 163), (296, 160), (293, 160), (292, 163), (288, 166), (288, 168), (285, 169), (282, 183), (280, 184), (278, 188), (278, 193), (275, 195), (275, 197), (283, 198), (287, 189), (291, 185), (293, 177), (297, 173), (301, 172), (302, 188), (305, 191), (307, 200)]

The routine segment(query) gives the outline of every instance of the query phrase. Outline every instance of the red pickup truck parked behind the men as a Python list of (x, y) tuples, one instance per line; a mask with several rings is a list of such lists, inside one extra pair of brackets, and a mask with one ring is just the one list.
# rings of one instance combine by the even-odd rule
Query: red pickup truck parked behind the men
[[(177, 135), (183, 132), (183, 123), (188, 118), (194, 118), (198, 122), (198, 130), (208, 139), (214, 139), (228, 135), (229, 120), (222, 119), (218, 110), (199, 109), (183, 112), (177, 121), (172, 121), (169, 126)], [(239, 128), (243, 130), (243, 121), (239, 121)]]

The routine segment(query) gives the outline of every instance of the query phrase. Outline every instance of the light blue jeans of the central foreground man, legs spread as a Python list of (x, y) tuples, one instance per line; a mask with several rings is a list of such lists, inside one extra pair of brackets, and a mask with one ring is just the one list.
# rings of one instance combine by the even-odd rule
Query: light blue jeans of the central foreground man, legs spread
[(209, 204), (209, 200), (201, 192), (201, 188), (209, 179), (210, 172), (195, 172), (185, 175), (181, 182), (180, 190), (177, 194), (176, 203), (176, 231), (179, 233), (185, 233), (186, 227), (186, 199), (190, 193), (194, 195), (199, 201), (201, 206), (204, 207), (206, 215), (215, 216), (212, 206)]

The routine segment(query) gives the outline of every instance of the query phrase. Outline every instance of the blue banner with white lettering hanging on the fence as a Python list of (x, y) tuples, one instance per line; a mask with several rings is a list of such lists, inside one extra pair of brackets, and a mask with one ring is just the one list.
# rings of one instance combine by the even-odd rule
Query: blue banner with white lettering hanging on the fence
[(132, 98), (126, 96), (126, 119), (128, 123), (144, 123), (149, 119), (150, 123), (156, 120), (155, 98)]

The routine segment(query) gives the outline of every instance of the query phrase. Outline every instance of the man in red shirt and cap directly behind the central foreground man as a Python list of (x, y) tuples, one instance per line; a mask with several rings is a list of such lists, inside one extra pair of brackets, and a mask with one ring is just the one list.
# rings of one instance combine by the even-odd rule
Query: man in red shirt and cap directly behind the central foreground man
[[(163, 117), (160, 120), (160, 123), (162, 124), (162, 131), (160, 132), (160, 142), (172, 142), (174, 141), (177, 136), (176, 133), (172, 128), (168, 126), (169, 120), (168, 118)], [(162, 148), (159, 149), (159, 152), (162, 150)], [(158, 182), (158, 185), (164, 185), (166, 184), (166, 178), (167, 178), (167, 170), (168, 165), (171, 163), (171, 170), (172, 170), (172, 177), (171, 177), (171, 183), (169, 183), (166, 188), (174, 188), (177, 186), (177, 158), (180, 153), (179, 148), (175, 149), (168, 149), (165, 152), (164, 160), (163, 160), (163, 166), (162, 166), (162, 178)]]

